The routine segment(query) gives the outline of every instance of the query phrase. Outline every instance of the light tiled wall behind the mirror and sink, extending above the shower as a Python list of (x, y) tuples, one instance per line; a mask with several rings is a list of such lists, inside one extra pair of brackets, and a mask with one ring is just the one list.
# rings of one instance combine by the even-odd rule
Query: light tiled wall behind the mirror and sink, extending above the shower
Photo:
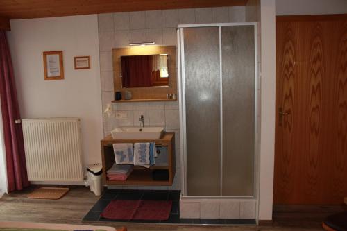
[[(103, 110), (113, 99), (112, 48), (128, 46), (130, 42), (155, 42), (175, 45), (178, 24), (245, 22), (245, 7), (191, 8), (180, 10), (152, 10), (117, 12), (98, 15), (101, 92)], [(127, 119), (103, 117), (104, 134), (117, 126), (139, 124), (144, 115), (146, 126), (164, 126), (176, 132), (176, 176), (169, 189), (180, 189), (180, 140), (178, 101), (163, 103), (113, 103), (114, 110), (126, 112)], [(167, 189), (168, 187), (123, 187)]]

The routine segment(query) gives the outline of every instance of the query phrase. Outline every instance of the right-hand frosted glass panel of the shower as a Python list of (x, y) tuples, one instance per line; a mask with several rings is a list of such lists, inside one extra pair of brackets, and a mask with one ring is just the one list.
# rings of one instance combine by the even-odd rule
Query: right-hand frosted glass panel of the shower
[(253, 196), (255, 143), (254, 27), (223, 26), (222, 196)]

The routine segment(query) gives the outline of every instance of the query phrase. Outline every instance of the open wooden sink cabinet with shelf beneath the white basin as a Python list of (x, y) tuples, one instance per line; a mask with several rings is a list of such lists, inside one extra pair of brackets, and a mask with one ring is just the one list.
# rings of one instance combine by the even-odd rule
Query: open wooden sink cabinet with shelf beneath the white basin
[[(130, 173), (128, 178), (124, 181), (108, 180), (106, 172), (115, 163), (115, 155), (113, 152), (112, 144), (117, 143), (141, 143), (141, 142), (155, 142), (158, 150), (165, 150), (167, 152), (167, 163), (162, 162), (157, 165), (150, 166), (149, 169), (142, 166), (133, 166), (133, 172)], [(103, 160), (103, 183), (105, 185), (172, 185), (175, 176), (175, 132), (164, 132), (160, 139), (113, 139), (108, 135), (101, 139), (101, 155)], [(158, 158), (163, 153), (158, 153)], [(166, 156), (165, 156), (166, 159)], [(159, 159), (158, 159), (159, 160)], [(158, 166), (160, 165), (160, 166)], [(153, 180), (153, 171), (156, 169), (165, 169), (169, 173), (168, 180)]]

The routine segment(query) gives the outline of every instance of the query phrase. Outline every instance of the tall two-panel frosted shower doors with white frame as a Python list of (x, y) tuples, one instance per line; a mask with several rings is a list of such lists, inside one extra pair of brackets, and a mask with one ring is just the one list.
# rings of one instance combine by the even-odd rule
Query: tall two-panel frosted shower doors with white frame
[(255, 197), (257, 24), (178, 26), (182, 194)]

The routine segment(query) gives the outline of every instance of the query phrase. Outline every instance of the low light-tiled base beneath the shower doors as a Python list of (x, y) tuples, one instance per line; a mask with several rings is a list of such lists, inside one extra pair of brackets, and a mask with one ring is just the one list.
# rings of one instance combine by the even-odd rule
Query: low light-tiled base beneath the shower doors
[(180, 218), (255, 219), (255, 199), (181, 199)]

